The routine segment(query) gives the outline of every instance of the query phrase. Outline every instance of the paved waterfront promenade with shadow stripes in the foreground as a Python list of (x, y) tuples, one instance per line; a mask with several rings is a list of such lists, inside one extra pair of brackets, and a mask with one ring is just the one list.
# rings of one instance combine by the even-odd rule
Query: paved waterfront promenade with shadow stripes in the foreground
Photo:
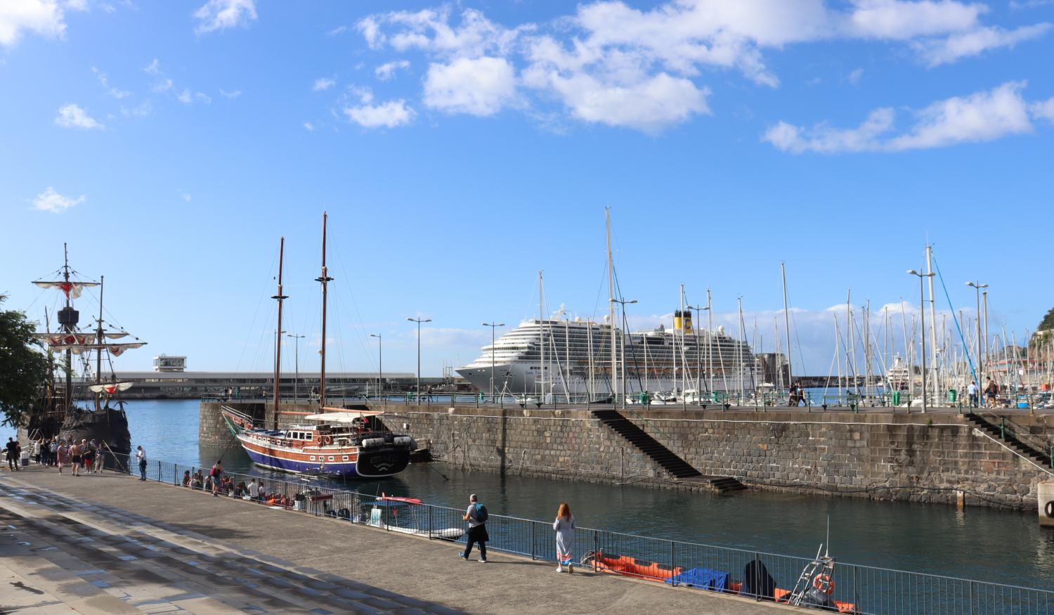
[(0, 612), (802, 612), (651, 581), (558, 575), (550, 562), (126, 475), (0, 473)]

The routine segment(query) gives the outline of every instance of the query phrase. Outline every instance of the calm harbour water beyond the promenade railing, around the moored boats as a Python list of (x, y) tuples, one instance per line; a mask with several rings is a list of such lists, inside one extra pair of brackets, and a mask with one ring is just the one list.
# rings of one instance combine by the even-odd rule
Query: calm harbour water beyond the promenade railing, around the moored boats
[[(199, 446), (196, 401), (128, 405), (133, 446), (151, 460), (229, 470), (255, 469), (237, 446)], [(6, 441), (13, 435), (0, 428)], [(288, 477), (288, 475), (281, 475)], [(812, 557), (831, 519), (831, 552), (841, 561), (1054, 589), (1054, 531), (1035, 512), (1018, 513), (903, 502), (875, 502), (746, 492), (730, 496), (578, 481), (503, 477), (444, 464), (415, 464), (395, 478), (348, 481), (365, 493), (412, 496), (450, 506), (479, 494), (493, 514), (551, 519), (570, 503), (580, 525)], [(207, 516), (208, 511), (202, 511)]]

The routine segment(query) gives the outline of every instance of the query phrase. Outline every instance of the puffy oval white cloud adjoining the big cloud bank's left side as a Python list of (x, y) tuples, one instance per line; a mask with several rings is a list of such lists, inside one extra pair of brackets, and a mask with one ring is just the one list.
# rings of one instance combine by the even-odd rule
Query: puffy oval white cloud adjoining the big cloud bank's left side
[(504, 58), (431, 64), (425, 78), (425, 104), (446, 113), (493, 115), (514, 98), (514, 71)]

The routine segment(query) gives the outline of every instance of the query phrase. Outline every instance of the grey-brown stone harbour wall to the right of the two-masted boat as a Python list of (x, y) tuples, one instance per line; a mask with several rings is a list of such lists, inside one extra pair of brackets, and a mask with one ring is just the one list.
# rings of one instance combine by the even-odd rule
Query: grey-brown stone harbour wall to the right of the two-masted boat
[[(586, 410), (391, 406), (395, 431), (440, 461), (508, 474), (687, 488)], [(950, 414), (650, 410), (626, 412), (706, 475), (797, 493), (915, 502), (1035, 506), (1035, 464)], [(1014, 417), (1048, 440), (1054, 420)]]

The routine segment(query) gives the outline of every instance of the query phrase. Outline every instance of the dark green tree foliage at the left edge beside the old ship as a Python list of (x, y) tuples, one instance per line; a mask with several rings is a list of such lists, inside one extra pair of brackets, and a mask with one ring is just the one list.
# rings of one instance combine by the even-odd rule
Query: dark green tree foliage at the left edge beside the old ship
[[(7, 297), (0, 294), (0, 304)], [(0, 310), (0, 415), (4, 425), (24, 425), (40, 407), (47, 357), (25, 312)]]

